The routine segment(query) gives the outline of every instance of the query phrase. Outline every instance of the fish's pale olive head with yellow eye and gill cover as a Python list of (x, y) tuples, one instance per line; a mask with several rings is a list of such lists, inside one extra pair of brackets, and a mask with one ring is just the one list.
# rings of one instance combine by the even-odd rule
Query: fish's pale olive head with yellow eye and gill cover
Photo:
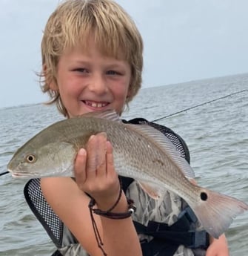
[(36, 146), (27, 142), (13, 155), (7, 170), (13, 177), (73, 177), (76, 157), (75, 146), (70, 142), (48, 142)]

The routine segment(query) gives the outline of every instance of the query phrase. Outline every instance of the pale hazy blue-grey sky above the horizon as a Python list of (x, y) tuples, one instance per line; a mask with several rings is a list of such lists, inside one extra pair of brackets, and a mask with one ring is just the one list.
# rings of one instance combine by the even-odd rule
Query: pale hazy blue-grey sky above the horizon
[[(40, 103), (42, 31), (58, 0), (0, 0), (0, 108)], [(144, 39), (143, 88), (248, 73), (247, 0), (117, 0)]]

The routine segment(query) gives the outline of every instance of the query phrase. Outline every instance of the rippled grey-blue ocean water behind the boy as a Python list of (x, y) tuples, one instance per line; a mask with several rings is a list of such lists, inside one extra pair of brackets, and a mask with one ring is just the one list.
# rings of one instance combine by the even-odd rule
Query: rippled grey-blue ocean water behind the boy
[[(187, 142), (201, 186), (248, 203), (247, 90), (248, 74), (146, 88), (123, 117), (152, 121), (191, 108), (158, 123), (172, 128)], [(0, 173), (7, 171), (17, 148), (62, 118), (54, 106), (42, 104), (0, 109)], [(24, 200), (26, 182), (10, 174), (0, 176), (1, 256), (50, 256), (55, 250)], [(226, 232), (230, 255), (248, 255), (247, 230), (248, 212), (235, 218)]]

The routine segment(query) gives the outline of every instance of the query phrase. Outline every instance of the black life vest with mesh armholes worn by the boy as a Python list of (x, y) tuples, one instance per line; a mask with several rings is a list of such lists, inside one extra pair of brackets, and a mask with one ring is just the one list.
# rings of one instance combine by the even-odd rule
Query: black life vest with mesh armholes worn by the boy
[[(125, 123), (127, 121), (123, 120), (123, 122)], [(186, 143), (170, 128), (148, 122), (143, 118), (135, 118), (128, 122), (133, 124), (147, 124), (158, 129), (172, 141), (177, 150), (181, 152), (182, 157), (190, 163), (190, 152)], [(133, 179), (121, 177), (121, 181), (125, 192), (133, 182)], [(61, 248), (64, 223), (61, 222), (44, 199), (39, 179), (32, 179), (27, 182), (24, 187), (24, 196), (33, 214), (40, 221), (51, 240), (53, 240), (53, 243), (58, 249)], [(191, 224), (195, 223), (197, 219), (190, 207), (185, 205), (184, 210), (179, 215), (178, 220), (172, 226), (155, 221), (150, 221), (148, 226), (144, 226), (134, 221), (138, 234), (147, 234), (153, 237), (153, 240), (149, 242), (147, 240), (141, 241), (143, 256), (172, 256), (179, 245), (184, 245), (191, 249), (204, 249), (204, 251), (207, 249), (209, 246), (209, 236), (205, 231), (198, 232), (192, 229)], [(52, 256), (61, 256), (61, 254), (57, 250)]]

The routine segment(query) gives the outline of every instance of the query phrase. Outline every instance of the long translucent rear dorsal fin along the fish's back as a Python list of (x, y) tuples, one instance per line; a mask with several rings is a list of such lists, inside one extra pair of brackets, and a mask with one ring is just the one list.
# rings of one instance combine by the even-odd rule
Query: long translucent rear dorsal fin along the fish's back
[(153, 140), (153, 143), (161, 148), (161, 150), (171, 158), (172, 162), (183, 171), (185, 177), (190, 179), (195, 178), (195, 173), (190, 164), (187, 163), (184, 157), (182, 157), (180, 152), (175, 148), (175, 145), (162, 134), (161, 131), (158, 131), (150, 125), (124, 125), (127, 125), (128, 128), (136, 131), (138, 134), (143, 135), (146, 139), (149, 139), (150, 141)]

